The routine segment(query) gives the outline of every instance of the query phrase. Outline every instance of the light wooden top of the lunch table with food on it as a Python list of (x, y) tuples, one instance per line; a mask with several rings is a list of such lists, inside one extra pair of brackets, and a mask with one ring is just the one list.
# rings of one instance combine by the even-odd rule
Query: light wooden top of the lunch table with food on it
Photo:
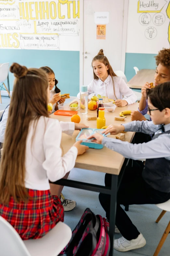
[[(74, 99), (73, 101), (78, 99)], [(72, 102), (73, 102), (72, 101)], [(71, 102), (68, 104), (70, 105)], [(114, 112), (111, 113), (105, 113), (106, 118), (106, 126), (110, 124), (117, 124), (120, 125), (122, 123), (128, 123), (131, 121), (130, 115), (127, 115), (127, 118), (125, 118), (125, 122), (115, 121), (114, 117), (119, 116), (120, 111), (124, 110), (137, 110), (138, 103), (134, 103), (131, 105), (127, 105), (125, 107), (117, 107)], [(85, 125), (89, 126), (89, 128), (96, 128), (96, 120), (94, 121), (88, 121), (87, 115), (81, 114), (78, 111), (78, 115), (81, 118), (80, 123), (84, 123)], [(94, 116), (97, 115), (97, 111), (90, 111), (88, 110), (88, 116)], [(69, 116), (60, 116), (60, 115), (50, 115), (51, 118), (58, 119), (59, 121), (65, 121), (70, 122), (71, 117)], [(62, 142), (61, 145), (64, 150), (64, 154), (73, 146), (73, 144), (76, 142), (76, 137), (78, 135), (79, 131), (74, 131), (72, 136), (69, 136), (67, 134), (62, 134)], [(125, 133), (125, 140), (128, 142), (132, 142), (133, 137), (135, 135), (135, 132), (127, 132)], [(110, 138), (115, 138), (114, 135), (109, 135)], [(87, 169), (87, 170), (93, 170), (98, 172), (104, 172), (104, 173), (110, 173), (119, 175), (122, 164), (124, 162), (124, 157), (120, 155), (119, 153), (112, 151), (106, 147), (102, 149), (93, 149), (90, 148), (85, 154), (78, 156), (76, 159), (75, 167), (80, 169)]]

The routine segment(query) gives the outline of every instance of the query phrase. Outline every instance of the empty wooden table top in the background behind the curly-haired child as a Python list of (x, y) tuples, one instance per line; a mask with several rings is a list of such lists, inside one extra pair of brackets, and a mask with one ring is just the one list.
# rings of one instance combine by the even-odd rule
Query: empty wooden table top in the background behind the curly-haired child
[(146, 82), (154, 82), (155, 69), (141, 69), (132, 79), (127, 83), (130, 88), (142, 89), (142, 85)]

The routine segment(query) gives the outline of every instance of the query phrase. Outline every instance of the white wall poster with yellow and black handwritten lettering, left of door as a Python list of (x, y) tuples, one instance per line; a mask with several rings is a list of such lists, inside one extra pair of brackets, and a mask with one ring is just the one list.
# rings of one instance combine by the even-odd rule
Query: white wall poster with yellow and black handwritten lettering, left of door
[(79, 50), (79, 1), (0, 0), (0, 49)]

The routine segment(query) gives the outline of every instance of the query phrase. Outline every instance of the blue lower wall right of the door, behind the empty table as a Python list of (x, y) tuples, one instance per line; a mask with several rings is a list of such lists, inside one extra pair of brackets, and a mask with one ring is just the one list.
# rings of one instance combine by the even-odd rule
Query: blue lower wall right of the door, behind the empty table
[(125, 60), (125, 76), (129, 81), (135, 76), (134, 67), (138, 69), (155, 69), (156, 62), (154, 56), (157, 54), (144, 54), (144, 53), (126, 53)]

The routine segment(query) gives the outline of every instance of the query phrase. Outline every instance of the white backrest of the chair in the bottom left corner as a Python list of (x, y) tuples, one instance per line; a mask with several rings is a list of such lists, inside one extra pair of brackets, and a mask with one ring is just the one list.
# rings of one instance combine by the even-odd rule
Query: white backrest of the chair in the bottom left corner
[(31, 256), (17, 231), (1, 216), (0, 255)]

